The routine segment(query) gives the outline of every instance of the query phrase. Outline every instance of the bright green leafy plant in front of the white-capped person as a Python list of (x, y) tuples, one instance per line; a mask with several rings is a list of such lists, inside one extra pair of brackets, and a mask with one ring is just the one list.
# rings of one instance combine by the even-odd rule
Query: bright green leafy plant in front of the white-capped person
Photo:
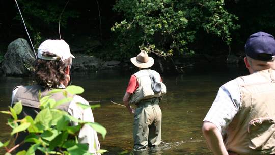
[[(62, 92), (66, 98), (56, 101), (50, 98), (52, 93)], [(85, 122), (78, 120), (69, 115), (65, 111), (55, 109), (58, 105), (71, 101), (72, 98), (68, 97), (68, 94), (80, 94), (84, 92), (84, 89), (79, 86), (68, 86), (66, 89), (53, 89), (47, 96), (40, 97), (40, 109), (35, 119), (31, 116), (26, 116), (23, 119), (18, 119), (18, 116), (23, 107), (21, 102), (17, 102), (13, 107), (9, 107), (9, 111), (0, 111), (1, 113), (11, 115), (7, 124), (12, 128), (10, 133), (10, 139), (2, 143), (0, 147), (5, 147), (6, 154), (9, 155), (19, 145), (29, 142), (31, 147), (28, 150), (18, 152), (16, 155), (33, 155), (36, 150), (40, 150), (45, 154), (66, 154), (66, 155), (79, 155), (79, 154), (91, 154), (88, 152), (88, 145), (81, 144), (77, 141), (77, 135), (80, 128), (87, 124), (94, 130), (100, 133), (104, 139), (107, 131), (106, 129), (96, 122)], [(39, 94), (41, 96), (41, 94)], [(77, 103), (83, 109), (90, 108), (89, 105)], [(91, 106), (92, 108), (99, 107), (99, 105)], [(72, 126), (70, 122), (77, 122), (78, 125)], [(13, 142), (18, 136), (19, 132), (29, 132), (29, 135), (24, 141), (16, 146)], [(99, 153), (104, 153), (106, 150), (99, 150)]]

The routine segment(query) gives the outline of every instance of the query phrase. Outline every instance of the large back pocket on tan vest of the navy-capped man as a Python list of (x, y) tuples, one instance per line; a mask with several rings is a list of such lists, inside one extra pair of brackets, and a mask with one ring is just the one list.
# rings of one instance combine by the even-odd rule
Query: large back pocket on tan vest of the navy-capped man
[(270, 150), (275, 143), (275, 122), (271, 118), (257, 118), (249, 122), (249, 148)]

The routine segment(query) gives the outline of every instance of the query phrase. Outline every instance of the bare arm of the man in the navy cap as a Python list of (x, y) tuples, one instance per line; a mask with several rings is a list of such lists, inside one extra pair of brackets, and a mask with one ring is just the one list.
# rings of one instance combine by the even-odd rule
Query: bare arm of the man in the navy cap
[(214, 154), (228, 155), (222, 134), (219, 132), (215, 124), (204, 121), (202, 131), (208, 146)]

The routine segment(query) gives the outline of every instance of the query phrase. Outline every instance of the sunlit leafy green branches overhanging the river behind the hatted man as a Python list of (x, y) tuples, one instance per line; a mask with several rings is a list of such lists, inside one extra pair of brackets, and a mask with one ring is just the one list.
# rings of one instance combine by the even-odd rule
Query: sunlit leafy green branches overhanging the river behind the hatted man
[(118, 34), (115, 46), (120, 56), (140, 46), (159, 56), (173, 53), (193, 53), (188, 45), (196, 40), (201, 30), (231, 42), (231, 31), (238, 29), (238, 19), (224, 9), (223, 0), (119, 0), (114, 10), (125, 19), (112, 28)]

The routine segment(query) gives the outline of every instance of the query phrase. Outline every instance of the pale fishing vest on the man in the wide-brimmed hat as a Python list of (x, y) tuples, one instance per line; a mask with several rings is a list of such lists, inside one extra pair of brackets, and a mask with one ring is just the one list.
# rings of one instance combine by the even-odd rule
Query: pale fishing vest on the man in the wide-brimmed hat
[[(161, 77), (158, 72), (150, 69), (143, 69), (134, 73), (139, 87), (130, 96), (129, 104), (137, 104), (143, 99), (160, 97), (166, 94), (166, 86), (161, 82)], [(155, 93), (151, 87), (152, 81), (150, 75), (155, 77), (155, 81), (161, 84), (161, 91)]]

